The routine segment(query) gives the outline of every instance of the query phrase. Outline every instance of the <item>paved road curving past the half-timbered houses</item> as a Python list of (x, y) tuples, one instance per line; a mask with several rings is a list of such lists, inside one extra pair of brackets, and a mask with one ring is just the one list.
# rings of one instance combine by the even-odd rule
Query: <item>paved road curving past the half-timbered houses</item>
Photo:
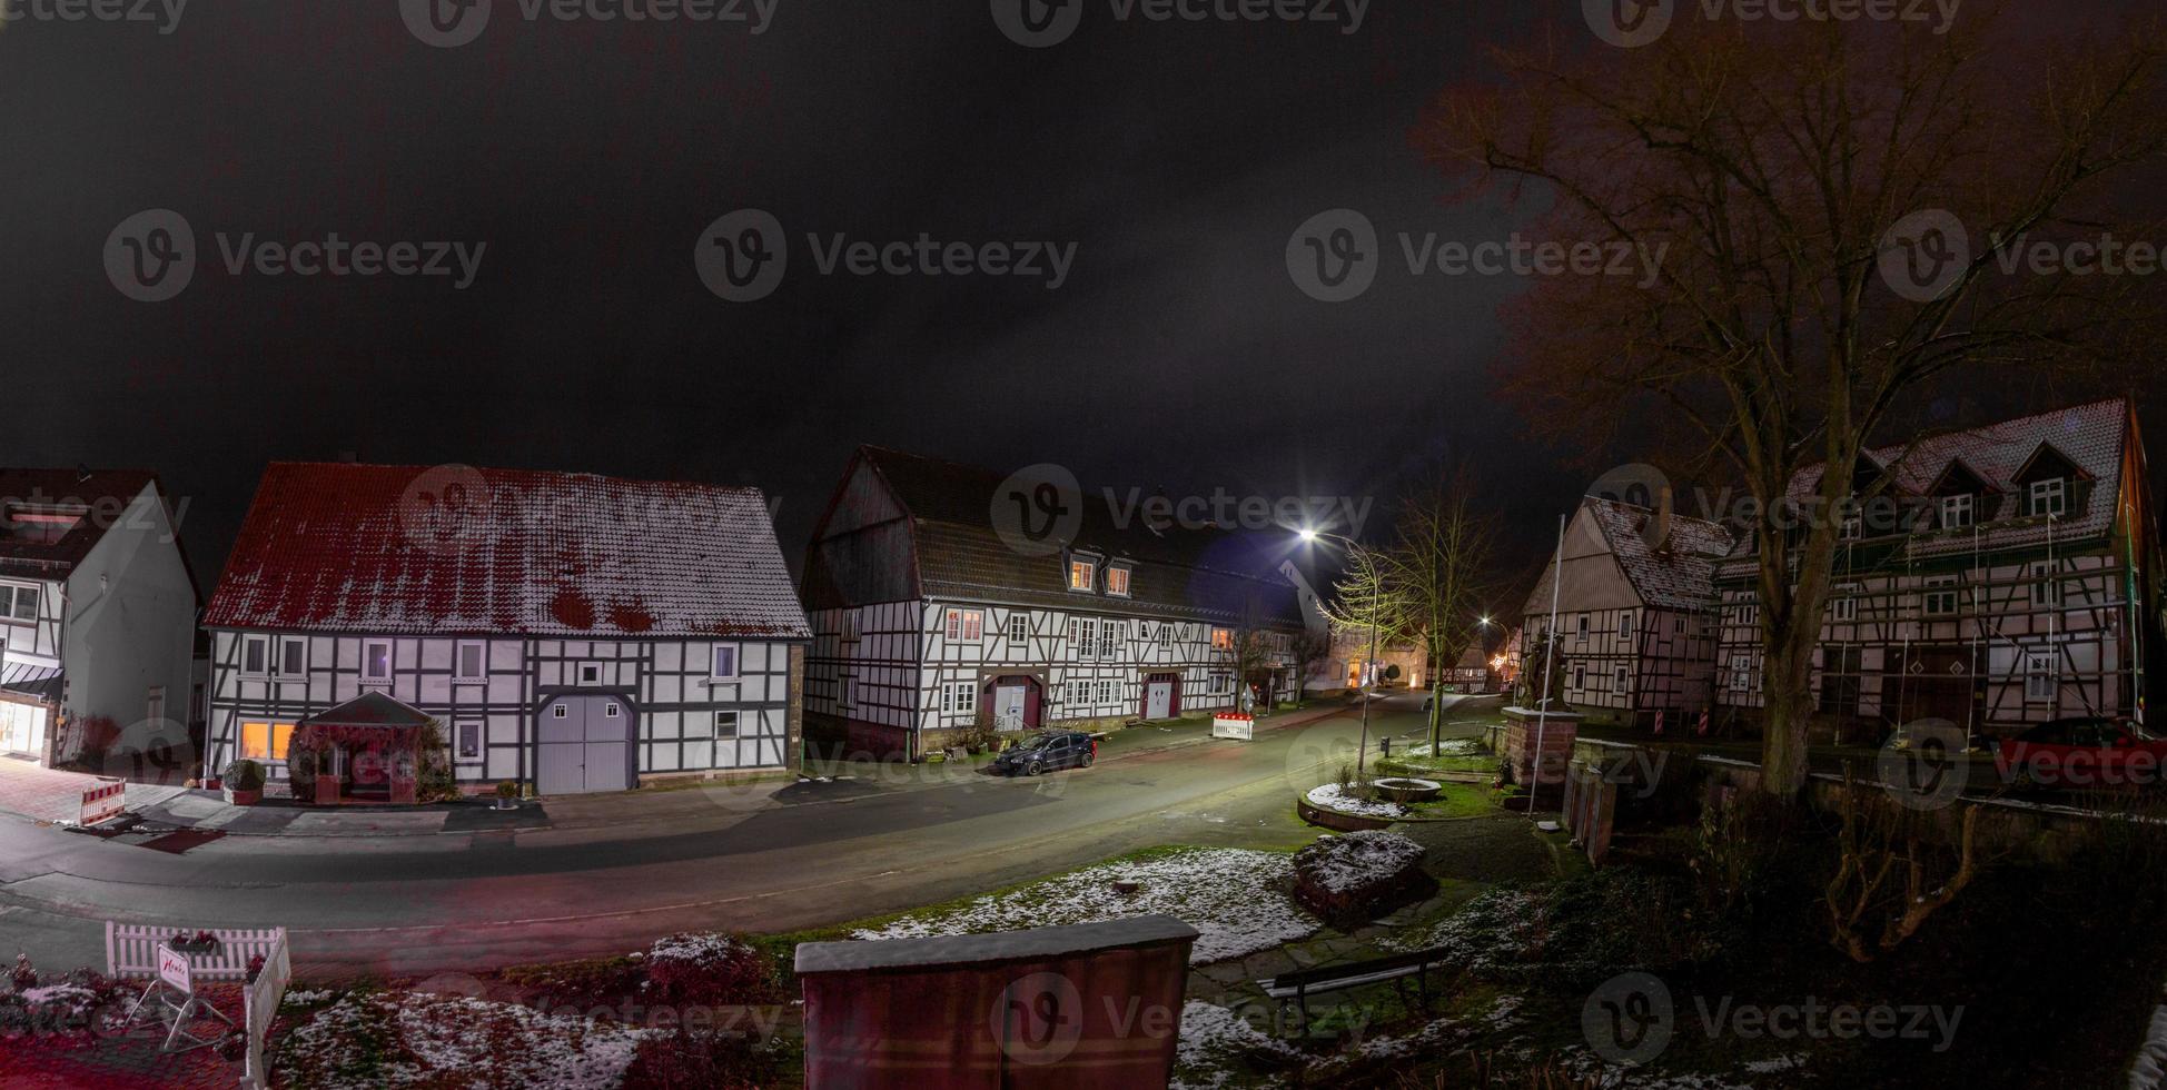
[[(1374, 709), (1422, 730), (1419, 696)], [(1469, 732), (1471, 728), (1463, 728)], [(293, 932), (306, 975), (618, 953), (687, 927), (782, 932), (943, 901), (1159, 843), (1294, 845), (1292, 795), (1352, 713), (1036, 780), (713, 789), (624, 828), (230, 836), (184, 856), (0, 819), (0, 953), (102, 964), (104, 919)]]

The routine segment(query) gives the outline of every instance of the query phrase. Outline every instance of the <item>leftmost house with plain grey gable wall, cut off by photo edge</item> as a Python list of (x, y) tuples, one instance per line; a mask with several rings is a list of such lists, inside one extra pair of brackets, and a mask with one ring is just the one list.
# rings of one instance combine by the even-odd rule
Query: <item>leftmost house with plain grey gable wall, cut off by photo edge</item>
[(202, 600), (176, 522), (150, 472), (0, 468), (0, 752), (184, 774)]

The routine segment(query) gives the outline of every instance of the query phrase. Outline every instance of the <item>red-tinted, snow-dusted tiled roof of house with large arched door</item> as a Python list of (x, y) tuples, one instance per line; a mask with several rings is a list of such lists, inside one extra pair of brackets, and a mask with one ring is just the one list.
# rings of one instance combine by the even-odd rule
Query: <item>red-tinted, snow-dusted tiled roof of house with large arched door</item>
[(808, 639), (754, 488), (273, 464), (206, 628)]

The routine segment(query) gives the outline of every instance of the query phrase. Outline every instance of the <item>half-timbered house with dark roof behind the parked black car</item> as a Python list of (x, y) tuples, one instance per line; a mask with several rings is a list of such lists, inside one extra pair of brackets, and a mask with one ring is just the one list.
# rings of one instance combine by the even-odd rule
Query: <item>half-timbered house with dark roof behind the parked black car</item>
[[(1294, 689), (1294, 637), (1322, 631), (1283, 557), (1237, 535), (1116, 527), (1084, 503), (1073, 540), (1016, 550), (999, 472), (860, 449), (806, 550), (815, 644), (806, 719), (882, 754), (958, 728), (1118, 724)], [(1255, 641), (1263, 654), (1242, 657)], [(1242, 670), (1248, 659), (1248, 670)]]

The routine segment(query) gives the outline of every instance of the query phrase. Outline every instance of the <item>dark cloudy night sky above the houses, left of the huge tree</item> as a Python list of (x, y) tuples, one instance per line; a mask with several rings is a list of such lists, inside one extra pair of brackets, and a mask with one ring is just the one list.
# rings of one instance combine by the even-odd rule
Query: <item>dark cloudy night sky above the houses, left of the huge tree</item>
[[(1289, 232), (1339, 206), (1393, 262), (1398, 232), (1510, 230), (1445, 206), (1409, 132), (1484, 69), (1484, 41), (1534, 33), (1526, 4), (1376, 2), (1352, 35), (1346, 2), (1300, 24), (1116, 7), (1086, 2), (1042, 50), (971, 0), (778, 0), (758, 35), (496, 0), (459, 48), (425, 46), (397, 0), (186, 4), (171, 33), (156, 7), (17, 20), (0, 464), (158, 470), (206, 583), (269, 459), (342, 453), (756, 483), (795, 568), (860, 442), (1172, 494), (1376, 496), (1378, 522), (1413, 466), (1465, 457), (1508, 544), (1541, 557), (1595, 470), (1517, 438), (1497, 397), (1515, 280), (1387, 264), (1320, 303), (1285, 264)], [(147, 208), (199, 249), (163, 303), (104, 271)], [(791, 247), (750, 303), (693, 269), (739, 208)], [(332, 232), (485, 251), (464, 290), (232, 275), (221, 254)], [(808, 232), (1044, 241), (1075, 262), (1055, 290), (821, 275)]]

